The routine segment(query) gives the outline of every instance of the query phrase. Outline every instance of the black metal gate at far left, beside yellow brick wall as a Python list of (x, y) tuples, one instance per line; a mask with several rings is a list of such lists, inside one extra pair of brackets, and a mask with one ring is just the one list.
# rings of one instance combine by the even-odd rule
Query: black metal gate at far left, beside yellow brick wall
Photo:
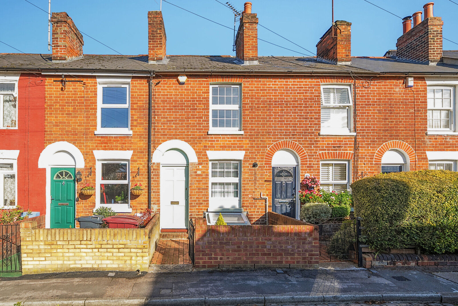
[(1, 272), (21, 272), (19, 224), (0, 225)]

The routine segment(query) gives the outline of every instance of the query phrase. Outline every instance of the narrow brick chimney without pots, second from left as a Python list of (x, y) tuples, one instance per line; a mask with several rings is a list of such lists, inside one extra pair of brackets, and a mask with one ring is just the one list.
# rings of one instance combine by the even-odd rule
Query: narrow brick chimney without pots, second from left
[(165, 58), (164, 19), (161, 11), (148, 12), (148, 62), (150, 64), (166, 64)]

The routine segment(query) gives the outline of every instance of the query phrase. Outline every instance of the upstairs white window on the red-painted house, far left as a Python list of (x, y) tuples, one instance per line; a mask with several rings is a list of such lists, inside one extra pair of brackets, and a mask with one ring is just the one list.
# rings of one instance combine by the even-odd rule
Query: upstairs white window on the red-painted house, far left
[(16, 83), (0, 81), (0, 118), (4, 129), (16, 128), (17, 103)]

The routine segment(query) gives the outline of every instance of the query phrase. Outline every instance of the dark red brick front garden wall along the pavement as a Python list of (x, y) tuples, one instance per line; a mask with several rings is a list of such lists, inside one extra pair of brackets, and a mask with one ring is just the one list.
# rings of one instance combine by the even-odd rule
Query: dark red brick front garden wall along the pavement
[(315, 225), (207, 225), (196, 219), (196, 268), (317, 268)]

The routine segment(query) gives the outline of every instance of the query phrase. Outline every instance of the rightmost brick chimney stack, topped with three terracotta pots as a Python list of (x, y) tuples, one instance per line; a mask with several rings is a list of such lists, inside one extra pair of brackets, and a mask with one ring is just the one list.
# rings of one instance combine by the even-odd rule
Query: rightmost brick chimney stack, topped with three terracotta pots
[[(441, 17), (433, 16), (433, 2), (426, 3), (425, 17), (421, 21), (421, 11), (414, 16), (414, 27), (407, 29), (403, 22), (403, 35), (396, 43), (396, 58), (407, 62), (436, 65), (442, 59)], [(407, 26), (409, 27), (409, 26)]]

